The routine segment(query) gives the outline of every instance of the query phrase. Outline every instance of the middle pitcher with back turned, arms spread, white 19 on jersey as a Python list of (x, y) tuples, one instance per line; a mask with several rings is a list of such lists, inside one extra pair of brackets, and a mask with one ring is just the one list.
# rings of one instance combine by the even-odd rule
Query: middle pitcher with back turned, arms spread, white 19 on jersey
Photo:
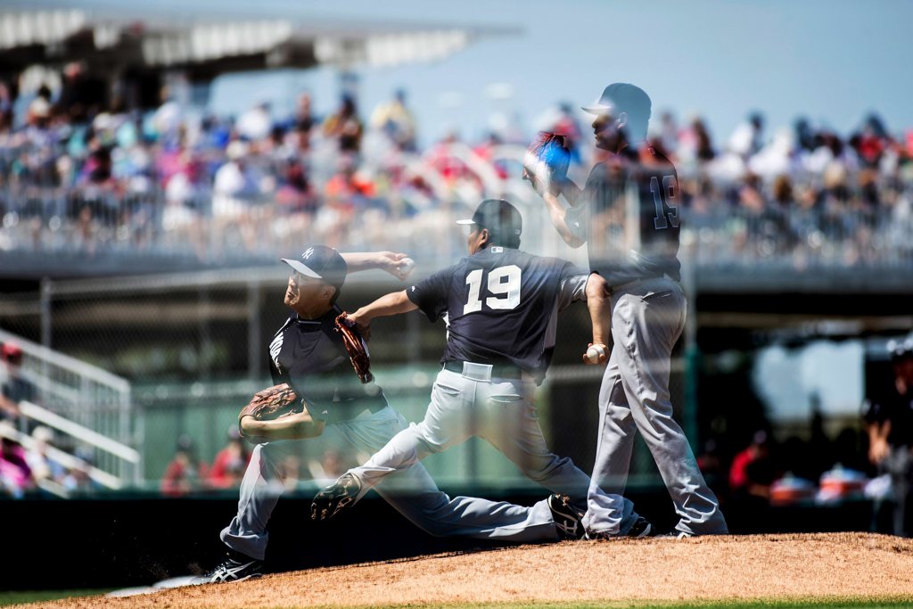
[[(575, 537), (582, 536), (590, 478), (546, 446), (533, 396), (551, 360), (556, 314), (586, 300), (593, 318), (593, 343), (608, 340), (608, 298), (598, 275), (558, 258), (522, 252), (519, 211), (507, 201), (488, 199), (471, 219), (469, 256), (409, 289), (394, 292), (355, 311), (350, 319), (365, 327), (374, 318), (421, 310), (428, 320), (444, 318), (447, 341), (425, 419), (400, 432), (362, 467), (343, 474), (320, 491), (312, 516), (331, 518), (352, 505), (383, 478), (409, 471), (432, 453), (470, 436), (485, 438), (527, 477), (551, 489)], [(578, 520), (571, 522), (571, 520)], [(625, 525), (635, 535), (650, 524), (630, 502)]]

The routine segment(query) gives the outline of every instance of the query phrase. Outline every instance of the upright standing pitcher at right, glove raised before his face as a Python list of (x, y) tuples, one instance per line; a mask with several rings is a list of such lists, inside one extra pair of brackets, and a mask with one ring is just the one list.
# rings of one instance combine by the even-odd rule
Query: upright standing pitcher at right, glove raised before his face
[(675, 167), (642, 145), (650, 118), (644, 90), (614, 83), (583, 110), (595, 115), (595, 144), (605, 154), (584, 187), (567, 178), (566, 152), (549, 137), (530, 148), (524, 176), (564, 241), (572, 247), (586, 243), (590, 267), (612, 291), (614, 346), (600, 389), (599, 442), (584, 525), (591, 537), (624, 534), (621, 493), (640, 431), (675, 505), (675, 536), (726, 533), (719, 501), (672, 418), (670, 356), (687, 312), (679, 285)]

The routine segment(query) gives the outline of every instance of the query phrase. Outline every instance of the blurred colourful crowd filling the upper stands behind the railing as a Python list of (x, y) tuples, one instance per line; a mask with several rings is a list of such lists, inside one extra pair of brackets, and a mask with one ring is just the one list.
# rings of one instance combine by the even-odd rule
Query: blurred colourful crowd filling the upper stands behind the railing
[[(318, 116), (305, 92), (289, 116), (263, 100), (221, 117), (167, 89), (154, 110), (103, 104), (79, 64), (57, 91), (14, 85), (0, 81), (0, 249), (154, 244), (218, 260), (302, 240), (433, 242), (452, 206), (509, 193), (531, 138), (509, 126), (466, 142), (451, 130), (420, 146), (404, 90), (367, 113), (343, 95)], [(545, 111), (535, 127), (567, 136), (582, 175), (593, 146), (574, 108)], [(840, 134), (805, 119), (771, 133), (751, 113), (717, 142), (701, 118), (659, 112), (649, 139), (677, 164), (685, 226), (708, 257), (810, 251), (852, 263), (910, 247), (913, 130), (892, 132), (875, 114)]]

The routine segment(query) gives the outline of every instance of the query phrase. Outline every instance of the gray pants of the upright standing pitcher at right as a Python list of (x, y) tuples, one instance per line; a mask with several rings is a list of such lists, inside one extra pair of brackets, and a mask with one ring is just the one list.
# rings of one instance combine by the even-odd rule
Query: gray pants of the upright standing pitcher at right
[(657, 278), (616, 290), (614, 346), (599, 393), (599, 439), (583, 526), (624, 534), (624, 499), (636, 431), (656, 460), (678, 514), (676, 529), (695, 535), (728, 532), (719, 501), (698, 469), (687, 437), (672, 418), (672, 347), (685, 328), (687, 299), (677, 281)]

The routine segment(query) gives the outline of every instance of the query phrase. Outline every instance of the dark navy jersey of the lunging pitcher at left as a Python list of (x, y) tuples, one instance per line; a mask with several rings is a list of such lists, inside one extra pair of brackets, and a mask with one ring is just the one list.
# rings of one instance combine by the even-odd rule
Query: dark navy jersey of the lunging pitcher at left
[(269, 343), (273, 383), (289, 383), (304, 399), (315, 419), (337, 423), (365, 410), (377, 412), (387, 405), (380, 387), (362, 384), (334, 330), (341, 313), (333, 307), (316, 320), (289, 317)]

